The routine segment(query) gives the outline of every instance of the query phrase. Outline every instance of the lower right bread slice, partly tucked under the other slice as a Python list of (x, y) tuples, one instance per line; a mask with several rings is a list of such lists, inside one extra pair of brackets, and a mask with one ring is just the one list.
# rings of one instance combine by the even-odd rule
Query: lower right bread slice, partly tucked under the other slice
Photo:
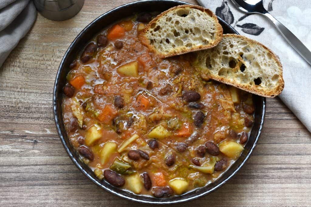
[(216, 47), (196, 54), (193, 64), (205, 77), (263, 97), (275, 97), (284, 88), (279, 58), (253, 39), (225, 34)]

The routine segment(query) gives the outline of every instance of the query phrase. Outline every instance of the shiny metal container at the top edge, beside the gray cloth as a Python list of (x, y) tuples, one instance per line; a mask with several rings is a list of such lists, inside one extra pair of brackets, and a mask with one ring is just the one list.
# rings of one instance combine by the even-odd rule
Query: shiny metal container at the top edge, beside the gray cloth
[(42, 16), (54, 21), (63, 21), (75, 16), (82, 8), (84, 0), (34, 0)]

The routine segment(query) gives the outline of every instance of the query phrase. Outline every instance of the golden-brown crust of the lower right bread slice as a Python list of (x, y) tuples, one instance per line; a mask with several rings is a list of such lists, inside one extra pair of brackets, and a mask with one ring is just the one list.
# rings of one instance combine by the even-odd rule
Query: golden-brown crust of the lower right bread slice
[(263, 96), (263, 97), (271, 98), (271, 97), (276, 97), (277, 95), (279, 95), (282, 92), (283, 88), (284, 88), (283, 68), (282, 68), (282, 64), (281, 64), (279, 58), (268, 47), (266, 47), (262, 43), (259, 43), (259, 42), (255, 41), (255, 40), (251, 39), (251, 38), (247, 38), (245, 36), (238, 35), (238, 34), (224, 34), (224, 37), (232, 37), (232, 38), (240, 37), (240, 38), (244, 39), (245, 41), (247, 41), (250, 44), (259, 44), (262, 47), (264, 47), (267, 51), (269, 51), (272, 54), (272, 58), (276, 61), (277, 65), (279, 66), (279, 69), (280, 69), (280, 74), (279, 74), (280, 76), (279, 76), (279, 80), (278, 80), (279, 85), (274, 90), (271, 90), (271, 91), (266, 92), (266, 93), (262, 93), (261, 91), (256, 90), (256, 88), (253, 88), (253, 86), (247, 87), (247, 86), (237, 85), (237, 84), (234, 84), (233, 81), (230, 81), (230, 80), (228, 80), (226, 78), (223, 78), (223, 77), (214, 76), (211, 73), (208, 73), (207, 76), (209, 78), (213, 79), (213, 80), (216, 80), (216, 81), (219, 81), (221, 83), (225, 83), (225, 84), (234, 86), (236, 88), (240, 88), (240, 89), (242, 89), (244, 91), (248, 91), (248, 92), (256, 94), (258, 96)]

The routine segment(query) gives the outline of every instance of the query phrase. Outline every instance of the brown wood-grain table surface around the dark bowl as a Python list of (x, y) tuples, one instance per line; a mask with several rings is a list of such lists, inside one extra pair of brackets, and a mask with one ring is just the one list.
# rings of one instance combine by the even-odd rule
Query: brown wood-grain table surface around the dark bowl
[[(87, 0), (62, 22), (38, 14), (0, 68), (0, 206), (143, 206), (102, 190), (77, 169), (52, 110), (55, 75), (69, 44), (97, 16), (128, 2)], [(310, 160), (311, 134), (280, 99), (268, 99), (262, 135), (244, 167), (185, 205), (311, 206)]]

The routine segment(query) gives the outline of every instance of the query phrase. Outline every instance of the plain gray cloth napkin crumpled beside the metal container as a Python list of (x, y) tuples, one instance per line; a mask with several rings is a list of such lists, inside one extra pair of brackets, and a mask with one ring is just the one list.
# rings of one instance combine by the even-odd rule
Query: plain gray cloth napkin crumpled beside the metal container
[(37, 17), (30, 0), (0, 0), (0, 67)]

